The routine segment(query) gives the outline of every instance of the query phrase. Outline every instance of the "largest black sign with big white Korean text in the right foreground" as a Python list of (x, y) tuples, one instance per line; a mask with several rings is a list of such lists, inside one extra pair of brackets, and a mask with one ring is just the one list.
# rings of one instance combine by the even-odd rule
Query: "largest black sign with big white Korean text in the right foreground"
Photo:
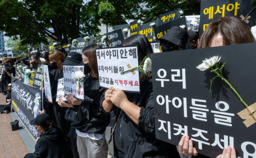
[(248, 62), (256, 58), (255, 49), (256, 43), (248, 43), (152, 54), (156, 138), (178, 145), (189, 135), (203, 155), (216, 157), (230, 145), (239, 157), (255, 157), (256, 123), (246, 127), (237, 114), (244, 104), (220, 77), (210, 92), (216, 74), (196, 68), (221, 56), (222, 74), (249, 106), (256, 102), (256, 63)]

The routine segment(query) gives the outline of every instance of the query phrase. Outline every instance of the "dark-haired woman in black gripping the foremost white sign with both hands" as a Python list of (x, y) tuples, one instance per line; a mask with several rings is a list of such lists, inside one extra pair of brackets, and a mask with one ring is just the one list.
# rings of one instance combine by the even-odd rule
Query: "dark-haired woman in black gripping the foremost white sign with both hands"
[[(123, 45), (138, 45), (139, 64), (153, 50), (148, 39), (135, 34)], [(152, 73), (140, 73), (140, 93), (125, 93), (110, 87), (102, 96), (102, 107), (111, 116), (113, 147), (116, 158), (169, 158), (179, 157), (174, 145), (156, 139), (154, 127), (154, 100)], [(106, 130), (106, 138), (107, 138)], [(110, 144), (108, 144), (109, 150)]]

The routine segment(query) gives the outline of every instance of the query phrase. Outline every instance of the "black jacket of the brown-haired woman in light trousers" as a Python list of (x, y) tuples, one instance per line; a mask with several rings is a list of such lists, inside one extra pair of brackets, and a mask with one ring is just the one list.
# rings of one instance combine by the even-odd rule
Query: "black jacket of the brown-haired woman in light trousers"
[(84, 102), (75, 106), (77, 118), (71, 124), (82, 133), (103, 134), (109, 124), (109, 115), (100, 107), (100, 99), (105, 89), (99, 87), (99, 79), (88, 76), (84, 82)]

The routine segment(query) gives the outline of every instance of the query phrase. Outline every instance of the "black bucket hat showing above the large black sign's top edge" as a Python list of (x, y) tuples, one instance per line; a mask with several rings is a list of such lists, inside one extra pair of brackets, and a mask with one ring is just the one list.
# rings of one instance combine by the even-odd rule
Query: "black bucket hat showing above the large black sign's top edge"
[(175, 45), (179, 45), (181, 48), (186, 49), (186, 43), (188, 41), (189, 34), (184, 28), (173, 26), (169, 31), (159, 38), (162, 43), (163, 40), (167, 40)]

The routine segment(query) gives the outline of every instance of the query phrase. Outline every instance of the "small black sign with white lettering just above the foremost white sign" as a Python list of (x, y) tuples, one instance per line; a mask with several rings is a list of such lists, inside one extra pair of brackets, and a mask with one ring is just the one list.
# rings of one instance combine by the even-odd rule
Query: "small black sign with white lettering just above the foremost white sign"
[(120, 46), (122, 45), (121, 41), (125, 40), (122, 34), (122, 28), (119, 28), (104, 35), (107, 36), (108, 44), (111, 47)]

